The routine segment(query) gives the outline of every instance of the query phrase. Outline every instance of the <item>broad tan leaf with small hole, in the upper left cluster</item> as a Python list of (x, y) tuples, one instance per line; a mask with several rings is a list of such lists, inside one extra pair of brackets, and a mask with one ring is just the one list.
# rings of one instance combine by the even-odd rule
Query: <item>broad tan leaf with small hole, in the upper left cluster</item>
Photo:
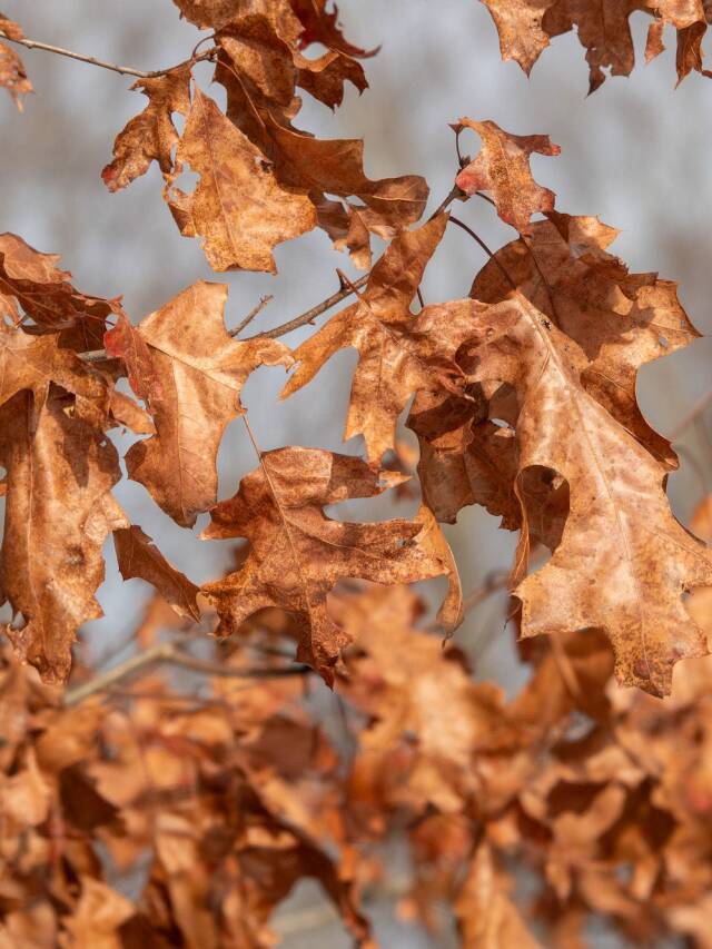
[[(200, 176), (190, 195), (172, 187), (184, 162)], [(278, 184), (260, 150), (197, 88), (175, 164), (166, 200), (180, 233), (204, 239), (215, 270), (276, 273), (275, 245), (316, 225), (312, 201)]]

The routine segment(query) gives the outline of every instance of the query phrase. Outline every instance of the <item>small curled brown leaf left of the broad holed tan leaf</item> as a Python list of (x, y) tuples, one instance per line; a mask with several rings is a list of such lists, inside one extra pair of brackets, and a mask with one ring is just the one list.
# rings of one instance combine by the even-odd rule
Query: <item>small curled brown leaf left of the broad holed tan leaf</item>
[(178, 141), (172, 112), (185, 116), (190, 109), (190, 69), (185, 66), (155, 79), (139, 79), (131, 89), (144, 92), (148, 106), (117, 136), (113, 161), (101, 172), (110, 191), (145, 175), (151, 161), (164, 172), (172, 169), (171, 151)]

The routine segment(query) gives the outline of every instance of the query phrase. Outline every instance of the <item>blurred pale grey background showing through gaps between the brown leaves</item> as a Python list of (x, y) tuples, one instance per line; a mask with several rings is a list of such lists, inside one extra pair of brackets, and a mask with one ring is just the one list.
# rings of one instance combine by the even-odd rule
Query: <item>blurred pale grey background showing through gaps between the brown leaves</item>
[[(170, 0), (4, 0), (3, 10), (32, 39), (146, 70), (186, 59), (200, 36), (179, 20)], [(613, 253), (634, 271), (656, 270), (679, 280), (693, 323), (703, 333), (712, 329), (712, 82), (693, 73), (674, 88), (673, 36), (666, 37), (672, 51), (644, 67), (650, 20), (634, 14), (639, 66), (631, 77), (609, 78), (586, 97), (587, 66), (574, 33), (554, 40), (527, 80), (516, 63), (501, 61), (494, 23), (477, 0), (439, 0), (437, 4), (343, 0), (340, 13), (352, 42), (382, 48), (365, 61), (370, 89), (359, 97), (347, 87), (336, 113), (305, 95), (298, 127), (320, 137), (364, 137), (370, 177), (424, 175), (432, 189), (431, 210), (449, 190), (456, 171), (448, 122), (469, 116), (493, 119), (517, 135), (547, 134), (562, 154), (534, 156), (532, 167), (535, 178), (556, 192), (557, 209), (599, 215), (619, 228)], [(179, 235), (161, 199), (157, 167), (116, 195), (101, 181), (115, 136), (146, 102), (140, 93), (129, 91), (130, 77), (47, 52), (20, 52), (36, 93), (26, 99), (21, 116), (9, 97), (0, 98), (0, 230), (14, 231), (38, 250), (61, 254), (62, 266), (85, 293), (123, 295), (127, 312), (139, 320), (197, 279), (224, 281), (230, 288), (228, 325), (236, 325), (261, 295), (274, 295), (253, 324), (250, 332), (257, 332), (291, 318), (337, 289), (336, 267), (356, 273), (323, 231), (314, 231), (276, 248), (276, 277), (214, 274), (199, 244)], [(208, 89), (209, 66), (199, 66), (196, 76), (221, 102), (220, 87)], [(476, 151), (476, 137), (464, 137), (463, 145)], [(484, 202), (458, 205), (456, 212), (492, 247), (515, 236)], [(466, 235), (448, 230), (426, 271), (426, 301), (466, 296), (484, 263)], [(296, 346), (304, 335), (306, 330), (299, 330), (285, 342)], [(356, 442), (342, 444), (354, 364), (354, 353), (339, 354), (309, 387), (286, 403), (277, 401), (284, 370), (257, 372), (243, 401), (260, 447), (301, 444), (357, 453)], [(710, 388), (711, 364), (712, 339), (702, 339), (643, 369), (639, 396), (655, 428), (669, 436), (674, 432)], [(670, 493), (683, 522), (703, 494), (712, 492), (710, 426), (712, 418), (706, 428), (703, 419), (695, 423), (680, 442), (681, 471), (672, 476)], [(125, 435), (116, 438), (121, 451), (130, 444)], [(240, 476), (255, 466), (244, 428), (235, 423), (219, 455), (220, 497), (234, 494)], [(134, 523), (195, 582), (215, 576), (227, 565), (225, 545), (198, 540), (207, 515), (191, 535), (164, 515), (141, 485), (125, 481), (116, 494)], [(397, 514), (406, 516), (414, 508), (415, 502), (398, 504)], [(342, 505), (335, 514), (393, 516), (394, 502)], [(484, 511), (466, 508), (457, 525), (445, 531), (465, 593), (479, 587), (492, 571), (508, 565), (515, 537), (500, 532), (497, 520)], [(110, 543), (107, 564), (107, 582), (98, 594), (107, 616), (86, 631), (97, 662), (131, 629), (149, 591), (140, 581), (128, 586), (121, 582)], [(516, 662), (512, 635), (505, 631), (505, 599), (504, 594), (492, 597), (473, 611), (457, 641), (473, 656), (477, 678), (495, 679), (513, 691), (526, 670)], [(316, 901), (314, 893), (297, 893), (280, 911), (283, 945), (291, 949), (314, 945), (315, 933), (320, 945), (348, 945)], [(385, 946), (436, 945), (399, 928), (392, 909), (387, 902), (376, 908), (377, 932)], [(597, 933), (595, 945), (614, 943)]]

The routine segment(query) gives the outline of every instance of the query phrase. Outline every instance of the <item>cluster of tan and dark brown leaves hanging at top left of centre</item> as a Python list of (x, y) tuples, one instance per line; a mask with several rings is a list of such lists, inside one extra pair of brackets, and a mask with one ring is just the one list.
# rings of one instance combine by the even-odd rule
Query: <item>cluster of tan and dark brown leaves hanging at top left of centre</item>
[[(215, 79), (227, 113), (192, 81), (189, 66), (139, 80), (145, 110), (117, 137), (102, 172), (110, 190), (156, 161), (164, 196), (186, 237), (201, 239), (215, 270), (275, 273), (275, 246), (323, 227), (359, 267), (370, 265), (370, 235), (390, 238), (421, 217), (427, 186), (418, 176), (372, 180), (359, 140), (322, 140), (293, 125), (301, 89), (329, 108), (345, 85), (367, 87), (359, 59), (325, 0), (271, 3), (177, 0), (181, 13), (215, 30)], [(317, 43), (325, 51), (307, 56)], [(174, 115), (185, 117), (179, 135)], [(195, 190), (180, 176), (199, 176)]]

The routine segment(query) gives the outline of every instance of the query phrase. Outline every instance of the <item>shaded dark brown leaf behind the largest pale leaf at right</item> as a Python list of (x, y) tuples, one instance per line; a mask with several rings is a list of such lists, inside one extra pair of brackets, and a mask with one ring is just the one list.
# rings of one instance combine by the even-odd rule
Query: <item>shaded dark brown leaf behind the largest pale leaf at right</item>
[[(636, 398), (637, 370), (699, 337), (676, 284), (656, 274), (631, 274), (606, 253), (617, 231), (593, 217), (552, 212), (532, 225), (527, 241), (515, 240), (477, 275), (471, 295), (505, 299), (511, 285), (585, 352), (582, 383), (644, 447), (669, 468), (678, 466), (670, 442), (650, 427)], [(497, 266), (498, 265), (498, 266)]]

